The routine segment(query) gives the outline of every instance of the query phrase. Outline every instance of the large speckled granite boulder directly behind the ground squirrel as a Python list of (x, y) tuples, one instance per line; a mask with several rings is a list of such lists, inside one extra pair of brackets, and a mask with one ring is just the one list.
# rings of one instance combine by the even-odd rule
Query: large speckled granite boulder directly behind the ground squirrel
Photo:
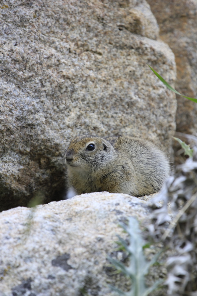
[(175, 61), (146, 1), (0, 8), (0, 210), (62, 198), (67, 133), (146, 135), (170, 150), (175, 96), (146, 63), (173, 85)]

